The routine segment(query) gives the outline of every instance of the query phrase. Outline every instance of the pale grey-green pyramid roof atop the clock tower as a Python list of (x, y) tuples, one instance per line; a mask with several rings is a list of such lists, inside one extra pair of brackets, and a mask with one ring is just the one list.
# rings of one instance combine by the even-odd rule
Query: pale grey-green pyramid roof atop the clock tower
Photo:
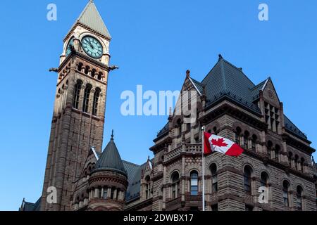
[(92, 28), (92, 30), (99, 32), (100, 34), (111, 38), (106, 25), (104, 25), (104, 20), (102, 20), (94, 1), (89, 1), (80, 17), (77, 19), (78, 22)]

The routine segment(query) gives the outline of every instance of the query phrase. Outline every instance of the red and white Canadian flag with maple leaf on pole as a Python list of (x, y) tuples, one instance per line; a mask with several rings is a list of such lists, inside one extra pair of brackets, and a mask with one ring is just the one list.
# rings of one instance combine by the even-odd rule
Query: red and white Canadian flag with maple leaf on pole
[(239, 156), (243, 153), (243, 149), (235, 142), (221, 136), (204, 132), (204, 140), (204, 153), (206, 155), (215, 151), (230, 156)]

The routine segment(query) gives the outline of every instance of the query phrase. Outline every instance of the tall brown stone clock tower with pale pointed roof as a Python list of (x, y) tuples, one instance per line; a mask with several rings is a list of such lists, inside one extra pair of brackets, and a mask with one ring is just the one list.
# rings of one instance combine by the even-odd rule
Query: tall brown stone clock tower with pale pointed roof
[[(101, 153), (111, 36), (91, 0), (64, 39), (41, 210), (70, 210), (74, 183), (94, 146)], [(54, 200), (56, 190), (56, 201)], [(52, 192), (53, 191), (53, 192)]]

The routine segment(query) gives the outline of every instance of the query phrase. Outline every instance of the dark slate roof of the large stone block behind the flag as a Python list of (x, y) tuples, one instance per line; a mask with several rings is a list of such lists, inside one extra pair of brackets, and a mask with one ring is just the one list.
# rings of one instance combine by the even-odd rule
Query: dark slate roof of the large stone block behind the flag
[[(192, 77), (190, 77), (190, 79), (192, 79)], [(220, 101), (224, 97), (227, 97), (238, 105), (242, 105), (244, 108), (259, 115), (261, 114), (261, 110), (254, 102), (259, 98), (260, 91), (263, 91), (270, 80), (271, 77), (268, 77), (268, 79), (260, 84), (255, 85), (246, 75), (244, 75), (242, 68), (237, 68), (235, 65), (232, 65), (227, 60), (223, 59), (222, 56), (219, 56), (216, 65), (201, 82), (198, 82), (195, 79), (192, 79), (192, 82), (194, 82), (197, 89), (201, 92), (205, 86), (207, 107)], [(286, 116), (285, 129), (291, 134), (295, 134), (302, 139), (307, 139), (306, 135)], [(159, 131), (157, 138), (168, 134), (167, 131), (168, 124)]]

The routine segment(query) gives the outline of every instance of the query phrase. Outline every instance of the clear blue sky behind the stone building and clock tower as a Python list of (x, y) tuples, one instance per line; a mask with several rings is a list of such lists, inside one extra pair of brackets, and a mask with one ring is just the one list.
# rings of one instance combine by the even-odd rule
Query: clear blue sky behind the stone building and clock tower
[[(46, 20), (56, 4), (58, 20)], [(104, 140), (115, 129), (124, 160), (142, 163), (166, 117), (123, 117), (120, 94), (178, 90), (190, 69), (201, 80), (218, 53), (259, 83), (271, 76), (285, 114), (316, 148), (317, 2), (96, 0), (113, 40)], [(268, 4), (269, 21), (258, 20)], [(87, 0), (5, 1), (0, 8), (1, 83), (0, 210), (35, 202), (42, 182), (63, 37)], [(317, 155), (315, 154), (315, 158)]]

